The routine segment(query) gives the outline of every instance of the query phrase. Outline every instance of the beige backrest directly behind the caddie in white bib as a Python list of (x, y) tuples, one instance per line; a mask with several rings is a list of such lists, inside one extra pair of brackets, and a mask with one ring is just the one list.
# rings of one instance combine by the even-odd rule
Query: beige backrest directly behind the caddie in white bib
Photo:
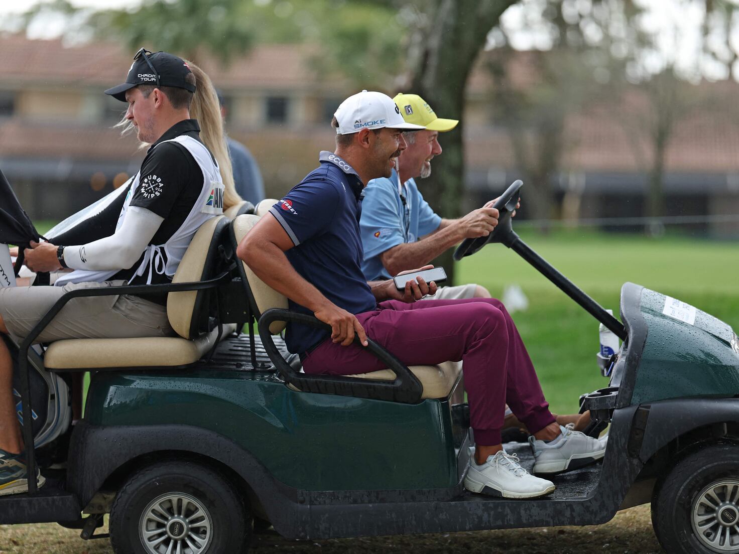
[[(216, 276), (219, 244), (228, 217), (217, 216), (200, 225), (172, 278), (173, 283), (207, 281)], [(208, 300), (212, 290), (188, 290), (167, 295), (167, 317), (177, 335), (193, 339), (208, 331)]]

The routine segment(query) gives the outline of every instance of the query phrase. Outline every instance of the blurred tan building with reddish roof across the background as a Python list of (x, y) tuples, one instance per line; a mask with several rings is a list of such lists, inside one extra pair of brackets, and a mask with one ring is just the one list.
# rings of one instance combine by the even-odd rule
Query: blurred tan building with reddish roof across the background
[[(131, 63), (129, 53), (105, 42), (64, 47), (61, 41), (20, 35), (1, 37), (0, 51), (0, 168), (30, 216), (61, 219), (137, 171), (143, 150), (114, 127), (125, 106), (102, 94), (120, 82)], [(208, 58), (197, 63), (222, 90), (228, 133), (253, 152), (269, 196), (281, 196), (310, 171), (319, 150), (333, 149), (328, 123), (338, 103), (355, 90), (342, 78), (319, 74), (304, 47), (259, 45), (227, 67)], [(491, 109), (490, 85), (478, 69), (468, 87), (466, 208), (490, 199), (521, 173), (508, 133)], [(739, 213), (739, 119), (729, 109), (739, 84), (701, 87), (723, 100), (675, 121), (664, 167), (667, 216)], [(629, 103), (638, 99), (604, 100), (568, 116), (570, 140), (551, 182), (563, 201), (559, 215), (646, 213), (649, 148), (644, 129), (630, 128), (638, 121), (627, 122), (623, 114), (649, 114), (650, 106)], [(522, 211), (521, 219), (526, 216)], [(720, 219), (696, 229), (739, 232), (736, 222)]]

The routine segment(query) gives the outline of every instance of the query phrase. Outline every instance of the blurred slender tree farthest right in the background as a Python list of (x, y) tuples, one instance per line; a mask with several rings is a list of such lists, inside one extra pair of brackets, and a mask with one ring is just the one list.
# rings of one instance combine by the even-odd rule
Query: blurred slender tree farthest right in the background
[(706, 85), (731, 78), (732, 68), (739, 79), (739, 48), (731, 38), (739, 7), (722, 0), (680, 0), (678, 5), (693, 18), (692, 52), (682, 47), (690, 41), (683, 27), (643, 30), (635, 35), (626, 71), (615, 83), (624, 97), (617, 121), (647, 177), (652, 219), (647, 232), (653, 234), (662, 229), (667, 151), (676, 131), (698, 110), (712, 111), (715, 98), (705, 92)]

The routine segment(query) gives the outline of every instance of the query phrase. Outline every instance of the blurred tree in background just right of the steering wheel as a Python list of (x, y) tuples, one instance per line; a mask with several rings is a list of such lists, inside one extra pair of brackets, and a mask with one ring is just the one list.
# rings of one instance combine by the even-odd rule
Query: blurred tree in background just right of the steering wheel
[(618, 0), (525, 0), (491, 33), (491, 111), (508, 134), (526, 182), (527, 212), (541, 222), (539, 230), (556, 216), (552, 182), (579, 142), (568, 121), (591, 103), (618, 98), (613, 80), (624, 61), (613, 52), (627, 51), (634, 30), (614, 22), (628, 21), (632, 12), (638, 10)]

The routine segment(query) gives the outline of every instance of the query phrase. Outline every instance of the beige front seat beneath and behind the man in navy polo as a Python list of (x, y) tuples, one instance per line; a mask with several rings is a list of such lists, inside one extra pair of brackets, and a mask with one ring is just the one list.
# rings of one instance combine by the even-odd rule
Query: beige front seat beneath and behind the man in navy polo
[[(257, 208), (259, 208), (259, 205), (257, 205)], [(259, 216), (256, 215), (236, 217), (232, 224), (236, 243), (241, 242), (246, 233), (258, 221)], [(257, 318), (271, 308), (287, 309), (287, 298), (284, 295), (270, 289), (246, 264), (244, 264), (244, 270), (249, 281), (253, 301), (259, 311), (256, 315)], [(285, 329), (284, 321), (273, 321), (270, 324), (270, 332), (273, 335), (282, 332), (282, 329)], [(409, 366), (408, 369), (411, 370), (423, 386), (422, 398), (446, 398), (462, 374), (462, 364), (460, 362), (445, 362), (438, 366)], [(350, 377), (392, 381), (395, 380), (395, 373), (389, 369), (382, 369), (381, 371), (351, 375)], [(292, 388), (298, 390), (294, 386)]]

